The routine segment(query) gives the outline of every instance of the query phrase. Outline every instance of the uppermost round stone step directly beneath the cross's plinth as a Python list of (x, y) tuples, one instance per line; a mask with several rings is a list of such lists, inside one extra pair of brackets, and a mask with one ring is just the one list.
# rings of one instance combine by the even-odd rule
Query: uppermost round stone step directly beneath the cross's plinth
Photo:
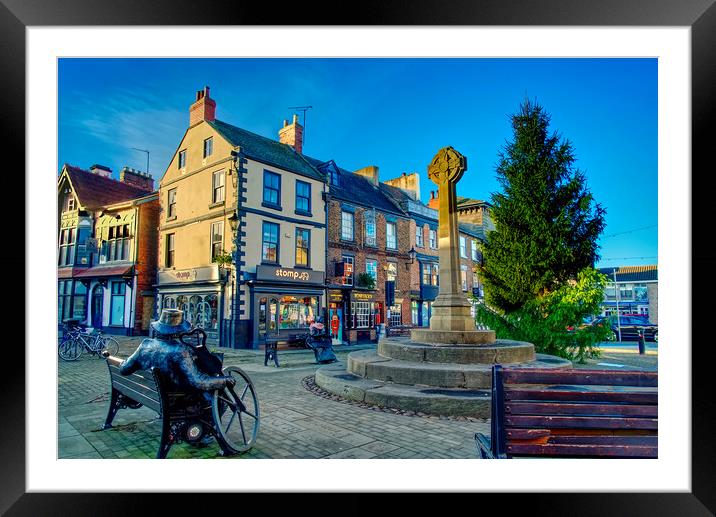
[(401, 361), (457, 364), (512, 364), (534, 361), (532, 343), (498, 339), (487, 345), (435, 346), (410, 338), (386, 338), (378, 343), (378, 355)]

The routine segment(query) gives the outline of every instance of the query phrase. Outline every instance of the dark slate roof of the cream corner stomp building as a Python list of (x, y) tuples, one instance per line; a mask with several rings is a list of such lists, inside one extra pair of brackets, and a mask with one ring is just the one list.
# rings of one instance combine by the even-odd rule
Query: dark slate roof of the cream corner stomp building
[(241, 152), (248, 158), (325, 181), (325, 177), (288, 144), (282, 144), (221, 120), (207, 120), (206, 122), (231, 145), (241, 147)]

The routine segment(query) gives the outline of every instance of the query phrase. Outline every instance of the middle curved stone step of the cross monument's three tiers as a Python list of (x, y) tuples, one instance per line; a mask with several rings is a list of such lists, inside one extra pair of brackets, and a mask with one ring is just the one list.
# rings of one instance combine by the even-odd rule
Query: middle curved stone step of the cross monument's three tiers
[[(571, 367), (569, 361), (552, 356), (543, 360), (513, 363), (510, 366), (533, 368)], [(436, 388), (489, 389), (492, 386), (492, 363), (448, 364), (402, 361), (378, 355), (374, 350), (348, 354), (347, 373), (364, 379)]]

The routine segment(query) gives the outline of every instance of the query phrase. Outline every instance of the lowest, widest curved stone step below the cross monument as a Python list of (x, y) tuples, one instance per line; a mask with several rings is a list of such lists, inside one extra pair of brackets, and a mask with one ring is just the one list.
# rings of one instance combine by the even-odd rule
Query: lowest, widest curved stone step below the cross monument
[(316, 384), (328, 392), (366, 404), (433, 415), (490, 418), (490, 390), (380, 382), (347, 373), (341, 363), (319, 368)]

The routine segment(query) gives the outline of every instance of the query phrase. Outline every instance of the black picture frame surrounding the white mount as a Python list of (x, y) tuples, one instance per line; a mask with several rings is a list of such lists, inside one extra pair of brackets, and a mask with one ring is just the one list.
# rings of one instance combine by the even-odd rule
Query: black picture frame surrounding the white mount
[[(61, 25), (542, 25), (542, 26), (688, 26), (692, 52), (692, 275), (712, 275), (716, 265), (716, 244), (709, 238), (714, 203), (706, 179), (713, 169), (708, 160), (713, 147), (708, 129), (716, 122), (716, 7), (714, 0), (458, 0), (450, 4), (436, 0), (410, 2), (363, 2), (350, 15), (341, 16), (333, 7), (308, 2), (276, 9), (259, 2), (190, 2), (158, 0), (3, 0), (0, 4), (0, 59), (3, 66), (2, 113), (6, 149), (25, 147), (25, 29), (28, 26)], [(206, 8), (210, 6), (211, 8)], [(25, 170), (24, 154), (15, 153), (15, 170)], [(707, 167), (709, 167), (707, 169)], [(688, 171), (684, 171), (688, 178)], [(20, 183), (19, 175), (12, 180)], [(24, 182), (19, 186), (24, 191)], [(711, 231), (709, 231), (711, 230)], [(6, 258), (7, 268), (24, 270), (24, 254)], [(22, 291), (13, 291), (22, 292)], [(490, 502), (524, 506), (531, 514), (550, 515), (710, 515), (716, 512), (716, 454), (712, 432), (714, 388), (711, 342), (704, 335), (709, 303), (700, 291), (692, 291), (693, 333), (684, 334), (679, 346), (692, 360), (692, 490), (690, 493), (614, 494), (480, 494), (472, 496), (470, 511), (487, 511)], [(32, 296), (25, 293), (25, 296)], [(701, 298), (699, 303), (699, 298)], [(25, 318), (30, 315), (26, 314)], [(697, 338), (701, 339), (697, 339)], [(13, 338), (14, 339), (14, 338)], [(689, 349), (691, 343), (700, 346)], [(25, 343), (27, 347), (41, 346)], [(110, 515), (137, 513), (147, 496), (136, 494), (25, 493), (25, 357), (24, 350), (11, 340), (3, 349), (3, 389), (0, 414), (0, 511), (7, 515)], [(11, 365), (11, 366), (9, 366)], [(30, 365), (31, 366), (31, 365)], [(668, 365), (662, 365), (668, 368)], [(48, 394), (55, 396), (55, 394)], [(31, 444), (30, 444), (31, 445)], [(248, 467), (241, 466), (241, 469)], [(205, 474), (202, 474), (205, 475)], [(237, 476), (247, 475), (247, 472)], [(625, 491), (628, 487), (625, 487)], [(267, 497), (264, 495), (264, 498)], [(297, 495), (294, 495), (297, 497)], [(500, 499), (502, 498), (502, 499)], [(206, 497), (201, 498), (205, 500)], [(222, 498), (225, 499), (225, 498)], [(407, 498), (406, 498), (407, 499)], [(424, 504), (425, 494), (413, 494), (411, 501)], [(319, 500), (313, 500), (320, 511)], [(359, 505), (355, 494), (346, 496), (345, 508)], [(264, 499), (264, 502), (266, 499)], [(402, 504), (408, 504), (410, 501)], [(205, 508), (199, 498), (186, 495), (161, 496), (162, 513), (172, 507), (187, 513)], [(270, 503), (269, 503), (270, 504)], [(315, 504), (315, 505), (314, 505)], [(480, 507), (478, 509), (478, 506)], [(232, 511), (225, 506), (225, 511)], [(367, 509), (366, 509), (367, 510)], [(328, 511), (328, 508), (324, 509)], [(335, 511), (335, 509), (334, 509)]]

